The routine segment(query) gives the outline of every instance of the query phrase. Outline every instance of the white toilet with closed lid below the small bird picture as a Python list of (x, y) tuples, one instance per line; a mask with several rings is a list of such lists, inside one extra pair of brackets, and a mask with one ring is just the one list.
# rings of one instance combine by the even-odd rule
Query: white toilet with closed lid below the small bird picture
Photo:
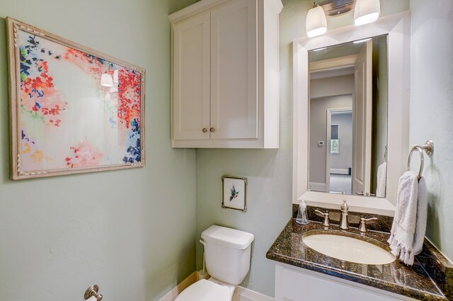
[(231, 301), (236, 285), (250, 268), (253, 234), (213, 225), (202, 232), (201, 238), (211, 278), (193, 283), (175, 301)]

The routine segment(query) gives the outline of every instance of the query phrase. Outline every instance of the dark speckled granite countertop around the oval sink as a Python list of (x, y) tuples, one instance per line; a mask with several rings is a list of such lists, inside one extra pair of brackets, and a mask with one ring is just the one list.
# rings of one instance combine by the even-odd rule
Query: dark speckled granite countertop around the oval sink
[(337, 225), (331, 225), (325, 229), (320, 222), (299, 225), (292, 218), (270, 247), (266, 257), (417, 300), (448, 300), (418, 260), (415, 260), (411, 267), (398, 260), (384, 265), (351, 263), (323, 255), (302, 242), (302, 237), (307, 232), (322, 233), (326, 231), (334, 231), (345, 236), (349, 236), (350, 233), (359, 234), (364, 237), (365, 241), (381, 244), (384, 248), (388, 246), (386, 240), (389, 238), (389, 233), (386, 232), (369, 231), (361, 234), (358, 229), (350, 228), (345, 231)]

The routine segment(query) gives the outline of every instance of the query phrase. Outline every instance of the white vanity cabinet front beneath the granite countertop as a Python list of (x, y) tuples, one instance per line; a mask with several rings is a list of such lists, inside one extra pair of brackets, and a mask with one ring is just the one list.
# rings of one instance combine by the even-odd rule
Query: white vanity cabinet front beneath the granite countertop
[(388, 301), (415, 300), (360, 283), (303, 268), (275, 266), (275, 301)]

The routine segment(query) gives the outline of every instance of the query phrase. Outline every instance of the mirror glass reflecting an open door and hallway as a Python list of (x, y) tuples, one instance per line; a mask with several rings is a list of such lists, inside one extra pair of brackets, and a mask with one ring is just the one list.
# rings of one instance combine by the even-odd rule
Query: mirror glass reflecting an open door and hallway
[(387, 36), (309, 51), (309, 190), (386, 196)]

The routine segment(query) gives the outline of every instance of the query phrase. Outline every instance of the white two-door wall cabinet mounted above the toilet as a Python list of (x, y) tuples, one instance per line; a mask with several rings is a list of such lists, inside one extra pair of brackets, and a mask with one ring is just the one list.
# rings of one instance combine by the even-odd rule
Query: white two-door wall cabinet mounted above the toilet
[(202, 0), (172, 23), (172, 146), (277, 148), (280, 0)]

